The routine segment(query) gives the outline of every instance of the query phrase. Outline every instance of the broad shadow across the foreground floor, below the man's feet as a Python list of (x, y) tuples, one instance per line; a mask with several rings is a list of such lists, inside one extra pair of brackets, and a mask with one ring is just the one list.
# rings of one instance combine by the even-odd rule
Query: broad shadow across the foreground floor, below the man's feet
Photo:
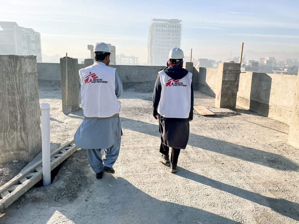
[[(92, 178), (95, 178), (92, 175)], [(92, 193), (85, 191), (74, 202), (67, 206), (56, 204), (55, 207), (43, 206), (39, 212), (27, 211), (25, 208), (15, 207), (0, 217), (0, 223), (11, 223), (15, 215), (22, 217), (23, 223), (57, 223), (53, 214), (60, 213), (61, 223), (72, 221), (74, 223), (229, 223), (237, 224), (234, 220), (217, 215), (203, 209), (158, 200), (136, 188), (126, 179), (111, 174), (104, 174), (103, 179), (95, 180)], [(149, 185), (150, 187), (150, 185)], [(150, 191), (150, 189), (149, 189)], [(170, 194), (182, 195), (175, 189)], [(84, 200), (86, 196), (88, 200)], [(189, 199), (187, 199), (188, 201)], [(70, 209), (72, 208), (72, 209)], [(34, 208), (31, 208), (34, 210)], [(26, 210), (26, 211), (25, 211)], [(30, 215), (24, 215), (24, 214)], [(65, 218), (64, 218), (65, 217)]]

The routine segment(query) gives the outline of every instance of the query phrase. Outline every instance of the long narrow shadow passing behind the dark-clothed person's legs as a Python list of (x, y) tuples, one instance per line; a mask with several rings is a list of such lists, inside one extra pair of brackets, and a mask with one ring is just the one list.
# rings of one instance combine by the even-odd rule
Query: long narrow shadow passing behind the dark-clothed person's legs
[[(144, 134), (149, 134), (152, 136), (160, 136), (158, 125), (123, 117), (120, 118), (120, 121), (123, 128), (138, 131)], [(263, 166), (268, 166), (278, 170), (298, 171), (299, 169), (298, 164), (281, 155), (229, 142), (224, 142), (202, 135), (190, 133), (188, 145), (253, 162)]]

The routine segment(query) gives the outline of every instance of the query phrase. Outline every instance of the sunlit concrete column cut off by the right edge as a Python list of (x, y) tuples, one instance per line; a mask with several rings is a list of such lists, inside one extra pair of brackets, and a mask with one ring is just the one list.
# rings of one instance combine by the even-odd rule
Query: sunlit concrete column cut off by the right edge
[(292, 110), (291, 125), (289, 130), (289, 144), (299, 148), (299, 71)]

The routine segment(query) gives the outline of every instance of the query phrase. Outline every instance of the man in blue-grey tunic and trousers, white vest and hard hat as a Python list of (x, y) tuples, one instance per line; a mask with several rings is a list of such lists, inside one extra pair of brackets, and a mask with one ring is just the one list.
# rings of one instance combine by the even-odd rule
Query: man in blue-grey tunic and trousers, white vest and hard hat
[[(103, 172), (115, 173), (112, 166), (118, 158), (122, 130), (119, 120), (123, 85), (115, 68), (109, 67), (110, 47), (94, 46), (93, 65), (80, 69), (83, 122), (74, 135), (77, 147), (87, 149), (88, 161), (101, 179)], [(101, 150), (105, 151), (102, 160)]]

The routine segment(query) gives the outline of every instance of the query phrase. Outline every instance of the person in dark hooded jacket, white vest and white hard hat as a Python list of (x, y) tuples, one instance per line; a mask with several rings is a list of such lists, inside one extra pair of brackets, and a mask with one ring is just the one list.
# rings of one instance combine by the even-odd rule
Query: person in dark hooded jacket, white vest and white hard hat
[[(176, 173), (181, 149), (189, 140), (189, 122), (193, 119), (192, 73), (183, 68), (184, 52), (170, 50), (167, 66), (158, 73), (155, 83), (153, 116), (159, 119), (161, 133), (159, 162), (169, 164)], [(169, 147), (172, 148), (169, 159)]]

